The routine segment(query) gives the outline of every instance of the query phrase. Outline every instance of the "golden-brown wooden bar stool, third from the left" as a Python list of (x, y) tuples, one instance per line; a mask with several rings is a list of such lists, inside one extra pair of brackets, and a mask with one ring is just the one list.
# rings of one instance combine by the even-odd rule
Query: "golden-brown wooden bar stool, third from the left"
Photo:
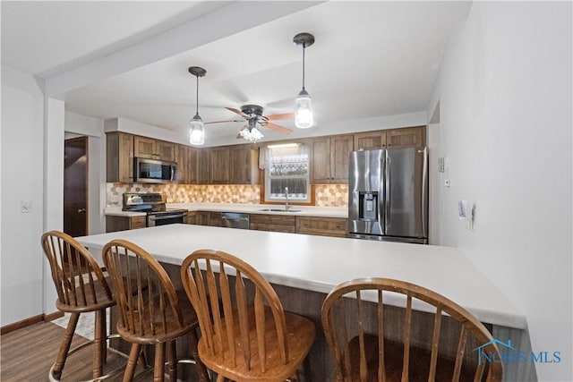
[(181, 278), (199, 315), (199, 357), (218, 382), (298, 377), (314, 342), (314, 324), (285, 312), (259, 272), (228, 253), (197, 250), (184, 259)]

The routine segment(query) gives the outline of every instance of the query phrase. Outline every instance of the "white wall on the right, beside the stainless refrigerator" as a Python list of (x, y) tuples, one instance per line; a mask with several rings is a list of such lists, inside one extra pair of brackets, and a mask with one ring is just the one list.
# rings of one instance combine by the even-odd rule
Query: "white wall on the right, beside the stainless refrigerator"
[[(573, 380), (571, 35), (570, 2), (476, 2), (429, 107), (449, 157), (442, 244), (526, 313), (534, 352), (561, 353), (535, 365), (543, 381)], [(475, 202), (475, 232), (458, 199)]]

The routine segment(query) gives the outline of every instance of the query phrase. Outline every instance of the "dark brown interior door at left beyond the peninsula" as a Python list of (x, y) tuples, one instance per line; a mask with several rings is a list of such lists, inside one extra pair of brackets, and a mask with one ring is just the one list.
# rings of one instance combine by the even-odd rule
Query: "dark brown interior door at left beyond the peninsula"
[(64, 233), (88, 233), (88, 137), (64, 141)]

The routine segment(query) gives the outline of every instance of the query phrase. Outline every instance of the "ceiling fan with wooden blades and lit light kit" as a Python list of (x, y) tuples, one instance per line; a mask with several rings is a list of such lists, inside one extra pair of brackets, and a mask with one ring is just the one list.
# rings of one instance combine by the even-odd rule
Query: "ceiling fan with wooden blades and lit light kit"
[[(287, 129), (286, 127), (279, 126), (278, 124), (271, 123), (270, 121), (278, 121), (284, 119), (294, 119), (295, 113), (286, 113), (281, 115), (262, 115), (263, 108), (262, 106), (258, 105), (244, 105), (241, 106), (241, 110), (237, 110), (233, 107), (226, 107), (227, 110), (235, 113), (236, 115), (241, 115), (241, 119), (231, 119), (226, 121), (213, 121), (213, 122), (206, 122), (208, 123), (228, 123), (228, 122), (246, 122), (247, 124), (244, 126), (244, 129), (241, 130), (237, 134), (237, 138), (244, 138), (246, 140), (259, 140), (262, 138), (262, 133), (257, 129), (257, 124), (261, 125), (262, 127), (266, 127), (267, 129), (274, 130), (275, 132), (280, 132), (283, 134), (290, 134), (292, 130)], [(254, 132), (258, 132), (254, 134)]]

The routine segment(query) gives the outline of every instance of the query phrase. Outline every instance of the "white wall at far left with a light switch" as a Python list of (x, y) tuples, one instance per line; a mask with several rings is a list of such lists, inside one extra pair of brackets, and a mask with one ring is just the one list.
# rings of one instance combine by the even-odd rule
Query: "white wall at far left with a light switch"
[[(0, 325), (41, 314), (44, 97), (41, 82), (2, 67)], [(21, 212), (21, 201), (31, 212)]]

